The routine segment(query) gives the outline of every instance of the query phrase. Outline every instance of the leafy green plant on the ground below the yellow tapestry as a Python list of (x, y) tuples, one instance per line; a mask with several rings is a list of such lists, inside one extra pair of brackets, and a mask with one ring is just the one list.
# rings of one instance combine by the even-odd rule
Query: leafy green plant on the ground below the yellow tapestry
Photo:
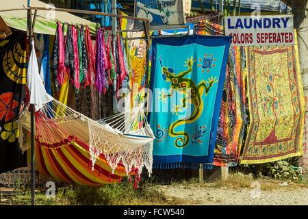
[(292, 164), (292, 159), (270, 162), (264, 164), (264, 166), (268, 170), (268, 175), (274, 179), (291, 179), (294, 181), (300, 179), (300, 169), (294, 168), (296, 166)]

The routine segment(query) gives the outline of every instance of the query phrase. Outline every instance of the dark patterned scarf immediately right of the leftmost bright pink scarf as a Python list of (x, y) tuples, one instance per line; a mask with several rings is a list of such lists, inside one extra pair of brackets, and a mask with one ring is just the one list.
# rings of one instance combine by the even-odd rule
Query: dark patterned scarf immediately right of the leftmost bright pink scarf
[(75, 80), (75, 55), (74, 55), (74, 41), (72, 28), (67, 27), (65, 39), (65, 62), (66, 72), (70, 75), (70, 82), (73, 84)]

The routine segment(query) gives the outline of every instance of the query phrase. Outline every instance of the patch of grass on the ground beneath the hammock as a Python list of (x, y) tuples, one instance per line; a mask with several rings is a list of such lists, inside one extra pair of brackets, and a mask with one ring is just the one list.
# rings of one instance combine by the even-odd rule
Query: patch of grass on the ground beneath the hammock
[[(36, 205), (183, 205), (180, 198), (168, 198), (158, 190), (153, 179), (142, 179), (138, 188), (133, 180), (125, 177), (121, 183), (111, 183), (99, 187), (75, 185), (69, 188), (57, 188), (54, 198), (47, 198), (45, 191), (36, 191)], [(65, 191), (65, 192), (64, 192)], [(9, 198), (10, 205), (31, 205), (29, 188), (16, 192)]]

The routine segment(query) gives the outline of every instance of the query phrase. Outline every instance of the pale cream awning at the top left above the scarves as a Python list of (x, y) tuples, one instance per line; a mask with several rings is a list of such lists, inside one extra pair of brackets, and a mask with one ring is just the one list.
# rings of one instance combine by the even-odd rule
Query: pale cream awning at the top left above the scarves
[[(31, 0), (31, 7), (51, 8), (51, 6), (38, 0)], [(27, 8), (27, 0), (0, 1), (0, 10), (10, 10), (16, 8)], [(32, 10), (32, 14), (34, 14), (34, 10)], [(9, 27), (27, 31), (27, 10), (0, 12), (0, 16)], [(97, 33), (96, 23), (68, 12), (56, 12), (52, 10), (38, 10), (34, 33), (55, 35), (56, 21), (73, 25), (88, 25), (90, 34)]]

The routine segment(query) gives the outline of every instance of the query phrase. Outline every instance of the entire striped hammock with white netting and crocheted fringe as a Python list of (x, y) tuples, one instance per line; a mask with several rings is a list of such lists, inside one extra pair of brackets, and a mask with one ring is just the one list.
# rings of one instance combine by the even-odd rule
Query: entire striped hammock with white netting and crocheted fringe
[[(36, 168), (42, 175), (102, 185), (135, 173), (139, 178), (143, 166), (151, 174), (155, 137), (142, 105), (94, 121), (55, 99), (51, 103), (34, 113)], [(25, 110), (19, 120), (23, 151), (29, 149), (29, 118)]]

